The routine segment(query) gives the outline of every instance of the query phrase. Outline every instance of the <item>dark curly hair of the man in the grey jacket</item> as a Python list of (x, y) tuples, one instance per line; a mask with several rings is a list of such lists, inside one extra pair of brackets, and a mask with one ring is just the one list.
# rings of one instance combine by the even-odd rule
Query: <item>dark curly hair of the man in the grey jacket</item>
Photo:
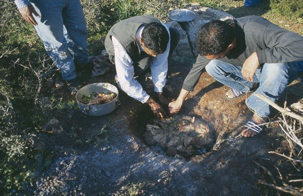
[(196, 35), (196, 47), (200, 55), (223, 52), (235, 38), (235, 29), (224, 21), (213, 20), (205, 24)]

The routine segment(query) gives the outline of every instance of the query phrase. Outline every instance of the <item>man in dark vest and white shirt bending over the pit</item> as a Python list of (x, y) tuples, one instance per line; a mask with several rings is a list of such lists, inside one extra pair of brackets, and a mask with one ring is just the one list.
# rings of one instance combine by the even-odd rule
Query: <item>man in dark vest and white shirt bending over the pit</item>
[[(116, 66), (117, 83), (130, 97), (147, 103), (159, 118), (167, 117), (162, 105), (168, 70), (168, 56), (179, 41), (179, 32), (169, 29), (151, 15), (135, 16), (115, 24), (109, 31), (105, 48)], [(150, 68), (160, 104), (151, 98), (134, 77)]]

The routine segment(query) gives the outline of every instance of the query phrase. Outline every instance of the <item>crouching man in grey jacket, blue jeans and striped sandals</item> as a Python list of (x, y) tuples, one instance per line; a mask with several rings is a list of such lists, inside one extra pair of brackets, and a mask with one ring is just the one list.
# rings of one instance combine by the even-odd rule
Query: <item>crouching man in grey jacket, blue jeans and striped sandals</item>
[(303, 38), (258, 16), (211, 21), (198, 32), (196, 45), (199, 55), (178, 99), (169, 104), (170, 112), (180, 110), (206, 68), (208, 74), (230, 87), (226, 93), (229, 100), (255, 91), (245, 101), (254, 111), (242, 130), (245, 138), (261, 133), (265, 126), (260, 124), (270, 115), (270, 105), (255, 94), (277, 102), (303, 71)]

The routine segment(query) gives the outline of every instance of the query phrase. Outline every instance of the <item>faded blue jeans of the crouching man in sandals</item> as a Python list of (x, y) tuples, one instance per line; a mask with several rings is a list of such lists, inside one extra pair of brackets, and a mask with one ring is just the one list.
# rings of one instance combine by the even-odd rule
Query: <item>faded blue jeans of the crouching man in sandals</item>
[[(209, 75), (235, 91), (249, 92), (252, 85), (260, 83), (254, 94), (261, 94), (273, 102), (282, 95), (286, 86), (296, 79), (297, 73), (303, 72), (303, 61), (288, 63), (265, 63), (259, 67), (254, 82), (247, 81), (241, 74), (242, 67), (233, 66), (222, 60), (212, 60), (206, 66)], [(252, 94), (246, 99), (247, 106), (260, 117), (270, 115), (270, 105)]]

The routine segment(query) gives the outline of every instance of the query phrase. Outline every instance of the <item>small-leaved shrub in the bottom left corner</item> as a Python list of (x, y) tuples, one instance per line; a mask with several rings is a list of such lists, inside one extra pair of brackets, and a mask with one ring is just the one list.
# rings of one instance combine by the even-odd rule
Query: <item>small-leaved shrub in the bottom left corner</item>
[(35, 167), (30, 167), (30, 143), (27, 130), (20, 129), (16, 113), (7, 94), (0, 89), (0, 194), (22, 190), (24, 185), (33, 186), (30, 177)]

